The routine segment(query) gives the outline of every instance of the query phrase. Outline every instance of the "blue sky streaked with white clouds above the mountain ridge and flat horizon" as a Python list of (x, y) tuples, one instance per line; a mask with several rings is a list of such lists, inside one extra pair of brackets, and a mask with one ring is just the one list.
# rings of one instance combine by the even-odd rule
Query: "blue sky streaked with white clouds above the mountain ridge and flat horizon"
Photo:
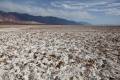
[(0, 10), (120, 25), (120, 0), (0, 0)]

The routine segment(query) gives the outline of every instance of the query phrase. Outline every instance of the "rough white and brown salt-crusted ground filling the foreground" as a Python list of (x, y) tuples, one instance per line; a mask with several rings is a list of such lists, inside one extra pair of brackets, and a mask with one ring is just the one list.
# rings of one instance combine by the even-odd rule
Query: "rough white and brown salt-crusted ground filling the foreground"
[(120, 34), (0, 32), (0, 80), (120, 80)]

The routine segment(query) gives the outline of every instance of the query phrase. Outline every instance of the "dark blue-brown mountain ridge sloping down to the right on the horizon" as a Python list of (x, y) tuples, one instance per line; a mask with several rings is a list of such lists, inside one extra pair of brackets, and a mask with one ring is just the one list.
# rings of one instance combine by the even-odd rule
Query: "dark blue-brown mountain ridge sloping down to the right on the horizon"
[(0, 24), (53, 24), (53, 25), (87, 25), (87, 22), (75, 22), (52, 16), (33, 16), (17, 12), (0, 11)]

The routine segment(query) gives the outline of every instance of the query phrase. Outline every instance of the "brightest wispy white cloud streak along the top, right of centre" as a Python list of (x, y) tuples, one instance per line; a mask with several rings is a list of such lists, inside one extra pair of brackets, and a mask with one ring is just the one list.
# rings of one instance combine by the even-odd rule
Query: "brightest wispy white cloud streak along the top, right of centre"
[(85, 9), (89, 7), (94, 7), (94, 6), (99, 6), (99, 5), (105, 5), (108, 2), (105, 1), (99, 1), (99, 2), (94, 2), (94, 3), (83, 3), (83, 2), (77, 2), (77, 1), (55, 1), (52, 2), (51, 5), (54, 7), (60, 7), (60, 8), (66, 8), (66, 9)]

